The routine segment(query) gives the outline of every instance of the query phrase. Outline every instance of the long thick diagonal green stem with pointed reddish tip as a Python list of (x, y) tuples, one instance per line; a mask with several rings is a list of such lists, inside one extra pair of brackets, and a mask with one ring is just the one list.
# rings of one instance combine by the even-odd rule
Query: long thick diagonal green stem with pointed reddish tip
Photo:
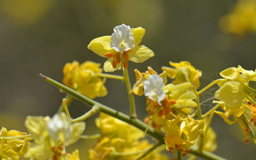
[[(76, 97), (78, 100), (82, 101), (83, 103), (93, 107), (94, 105), (97, 105), (100, 108), (100, 112), (106, 113), (109, 116), (115, 117), (119, 120), (122, 120), (130, 125), (133, 125), (134, 127), (137, 127), (138, 129), (140, 129), (141, 131), (145, 131), (148, 127), (147, 124), (143, 123), (142, 121), (138, 120), (138, 119), (133, 119), (130, 118), (129, 116), (127, 116), (126, 114), (123, 114), (122, 112), (118, 112), (117, 110), (111, 109), (105, 105), (102, 105), (78, 92), (76, 92), (75, 90), (72, 90), (71, 88), (62, 85), (61, 83), (58, 83), (57, 81), (54, 81), (53, 79), (46, 77), (42, 74), (40, 74), (40, 76), (45, 79), (48, 83), (58, 87), (59, 89), (64, 90), (65, 92), (69, 93), (70, 95)], [(156, 138), (160, 143), (164, 144), (164, 137), (165, 135), (156, 132), (152, 127), (148, 128), (147, 134)], [(213, 153), (209, 153), (206, 151), (203, 151), (202, 153), (197, 153), (195, 148), (191, 147), (191, 153), (195, 154), (197, 156), (200, 156), (202, 158), (206, 158), (208, 160), (226, 160), (224, 158), (221, 158)]]

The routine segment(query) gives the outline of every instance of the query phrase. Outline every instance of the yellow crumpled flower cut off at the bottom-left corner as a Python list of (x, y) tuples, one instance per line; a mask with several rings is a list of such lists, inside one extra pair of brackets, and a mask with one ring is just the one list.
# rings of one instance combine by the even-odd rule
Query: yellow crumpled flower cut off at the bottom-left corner
[[(27, 133), (16, 131), (16, 130), (10, 130), (7, 132), (7, 129), (2, 127), (0, 131), (1, 137), (12, 137), (12, 136), (22, 136), (26, 135)], [(1, 140), (0, 145), (2, 147), (2, 150), (0, 149), (0, 154), (2, 152), (2, 155), (9, 156), (10, 158), (17, 158), (19, 159), (19, 156), (24, 156), (24, 154), (27, 152), (28, 149), (28, 138), (21, 139), (21, 140)], [(8, 145), (8, 146), (7, 146)], [(6, 149), (4, 147), (7, 147)], [(7, 158), (8, 160), (8, 158)]]

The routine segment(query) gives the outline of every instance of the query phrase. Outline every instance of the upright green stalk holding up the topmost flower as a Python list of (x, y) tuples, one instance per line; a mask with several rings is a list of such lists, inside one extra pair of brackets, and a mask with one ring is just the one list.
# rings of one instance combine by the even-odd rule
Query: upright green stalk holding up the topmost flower
[(129, 101), (130, 101), (130, 117), (137, 118), (136, 109), (135, 109), (135, 102), (134, 102), (134, 92), (132, 91), (128, 70), (124, 69), (124, 82), (127, 88)]

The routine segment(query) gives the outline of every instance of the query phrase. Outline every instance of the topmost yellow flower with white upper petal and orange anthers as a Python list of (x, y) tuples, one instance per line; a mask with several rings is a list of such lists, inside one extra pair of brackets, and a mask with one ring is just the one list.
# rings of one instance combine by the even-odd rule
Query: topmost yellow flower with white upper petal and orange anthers
[(142, 63), (154, 56), (154, 52), (144, 45), (140, 45), (145, 29), (130, 28), (122, 24), (114, 28), (111, 36), (103, 36), (93, 39), (88, 45), (88, 49), (96, 54), (109, 58), (104, 63), (105, 72), (126, 69), (127, 62)]

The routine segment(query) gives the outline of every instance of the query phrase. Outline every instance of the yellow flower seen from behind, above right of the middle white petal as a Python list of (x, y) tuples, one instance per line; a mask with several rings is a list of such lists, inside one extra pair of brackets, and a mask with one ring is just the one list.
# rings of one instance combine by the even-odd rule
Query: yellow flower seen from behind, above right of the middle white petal
[(190, 82), (194, 83), (196, 88), (199, 88), (199, 78), (202, 76), (200, 70), (195, 69), (188, 61), (181, 61), (180, 63), (170, 61), (169, 63), (175, 68), (162, 67), (162, 70), (167, 72), (169, 78), (174, 79), (172, 82), (174, 85)]

